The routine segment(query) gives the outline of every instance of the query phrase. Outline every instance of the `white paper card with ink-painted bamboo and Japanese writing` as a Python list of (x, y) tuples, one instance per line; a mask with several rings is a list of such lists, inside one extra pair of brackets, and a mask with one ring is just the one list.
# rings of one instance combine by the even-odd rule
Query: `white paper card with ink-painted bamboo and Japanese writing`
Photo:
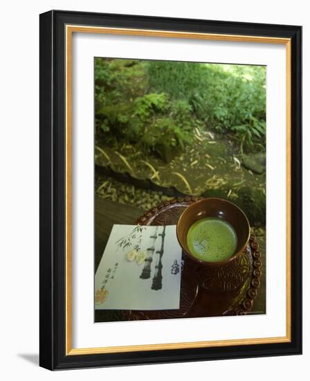
[(95, 274), (95, 309), (179, 309), (181, 256), (175, 225), (115, 224)]

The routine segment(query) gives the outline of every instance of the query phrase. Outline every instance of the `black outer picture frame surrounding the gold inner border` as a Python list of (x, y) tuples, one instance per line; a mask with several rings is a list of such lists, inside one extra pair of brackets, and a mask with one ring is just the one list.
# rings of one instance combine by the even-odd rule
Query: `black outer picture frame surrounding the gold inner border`
[[(291, 40), (291, 340), (120, 353), (66, 353), (66, 25)], [(51, 10), (40, 15), (40, 326), (46, 369), (223, 360), (302, 353), (302, 27)]]

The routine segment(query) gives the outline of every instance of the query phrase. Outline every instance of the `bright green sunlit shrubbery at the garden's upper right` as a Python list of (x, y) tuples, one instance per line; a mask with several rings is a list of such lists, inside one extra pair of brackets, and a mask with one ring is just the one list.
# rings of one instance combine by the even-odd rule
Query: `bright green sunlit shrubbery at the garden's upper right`
[(147, 70), (149, 91), (165, 91), (206, 127), (235, 134), (241, 151), (264, 149), (264, 67), (150, 61)]

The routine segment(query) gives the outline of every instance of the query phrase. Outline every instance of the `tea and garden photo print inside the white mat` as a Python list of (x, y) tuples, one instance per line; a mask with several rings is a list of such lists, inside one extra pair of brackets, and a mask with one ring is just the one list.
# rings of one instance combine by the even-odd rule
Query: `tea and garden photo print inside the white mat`
[(94, 57), (94, 321), (266, 314), (266, 66)]

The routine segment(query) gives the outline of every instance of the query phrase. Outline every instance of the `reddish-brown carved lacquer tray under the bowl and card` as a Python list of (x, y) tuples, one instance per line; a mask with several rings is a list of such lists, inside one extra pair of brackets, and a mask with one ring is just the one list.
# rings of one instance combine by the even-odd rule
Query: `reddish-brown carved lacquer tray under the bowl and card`
[[(145, 212), (136, 224), (176, 224), (184, 209), (201, 197), (179, 197)], [(124, 318), (169, 319), (246, 314), (253, 307), (262, 276), (261, 254), (255, 236), (241, 256), (224, 266), (201, 267), (182, 254), (179, 310), (123, 311)]]

